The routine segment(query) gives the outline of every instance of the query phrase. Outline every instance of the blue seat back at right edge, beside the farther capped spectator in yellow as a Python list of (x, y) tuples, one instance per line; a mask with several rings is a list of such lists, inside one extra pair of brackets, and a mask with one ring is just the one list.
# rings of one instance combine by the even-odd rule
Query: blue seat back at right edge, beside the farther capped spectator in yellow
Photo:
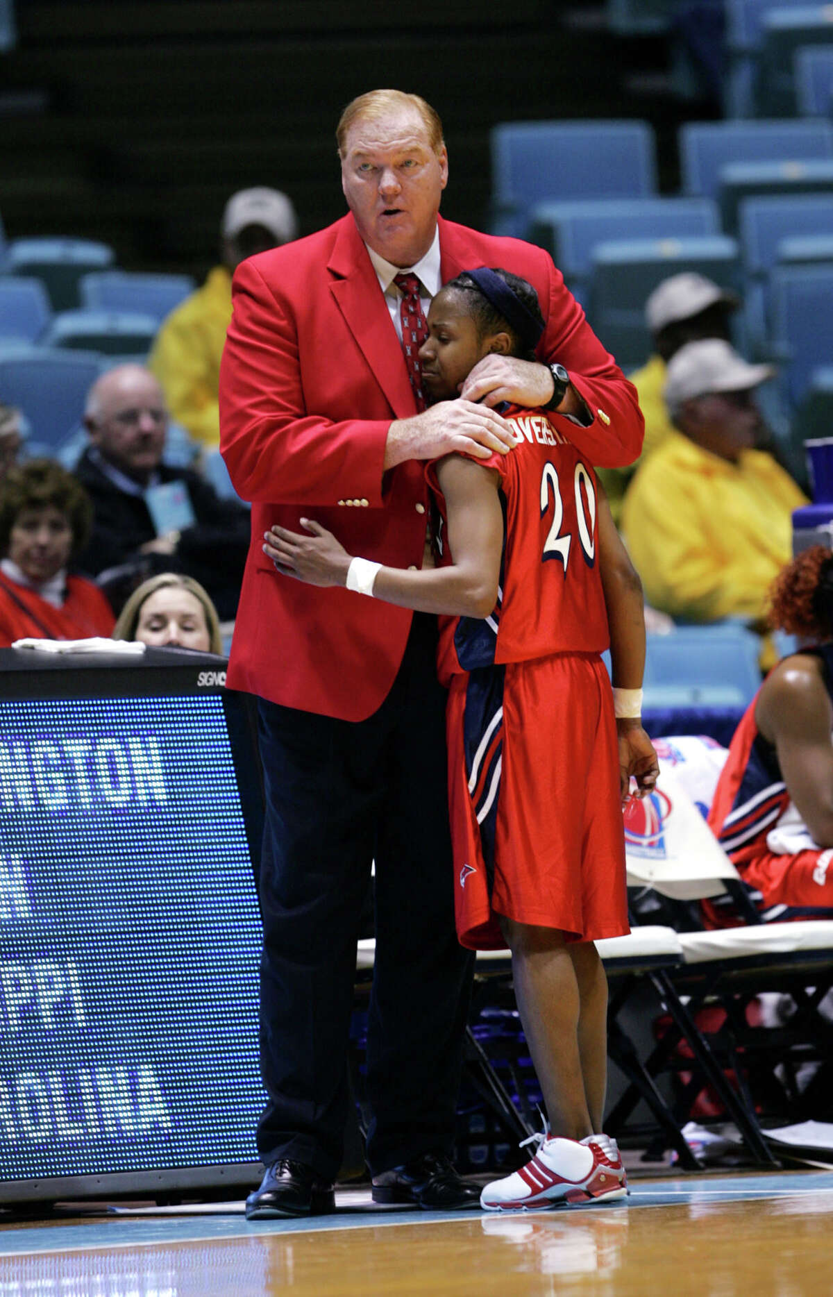
[(795, 410), (808, 393), (812, 371), (833, 357), (833, 266), (776, 266), (771, 300), (773, 350), (786, 401)]

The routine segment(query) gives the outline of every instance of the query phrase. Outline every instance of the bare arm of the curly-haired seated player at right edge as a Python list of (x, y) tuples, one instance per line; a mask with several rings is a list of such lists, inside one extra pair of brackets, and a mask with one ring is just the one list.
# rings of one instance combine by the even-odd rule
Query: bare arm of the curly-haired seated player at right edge
[(758, 729), (775, 743), (784, 782), (820, 847), (833, 847), (833, 706), (821, 660), (799, 654), (768, 676), (755, 704)]

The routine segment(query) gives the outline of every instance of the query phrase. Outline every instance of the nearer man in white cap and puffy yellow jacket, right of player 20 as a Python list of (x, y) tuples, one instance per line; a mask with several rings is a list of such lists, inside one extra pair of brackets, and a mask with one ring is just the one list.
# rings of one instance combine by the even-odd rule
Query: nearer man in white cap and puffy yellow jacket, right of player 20
[(806, 498), (755, 449), (755, 389), (772, 375), (721, 339), (686, 342), (668, 362), (673, 427), (633, 479), (622, 521), (649, 601), (672, 617), (763, 624), (767, 589), (791, 556), (791, 512)]

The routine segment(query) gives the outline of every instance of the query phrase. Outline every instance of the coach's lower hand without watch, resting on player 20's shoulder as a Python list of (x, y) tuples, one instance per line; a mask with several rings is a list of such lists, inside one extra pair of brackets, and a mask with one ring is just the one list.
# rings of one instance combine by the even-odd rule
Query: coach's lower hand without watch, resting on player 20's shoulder
[(511, 424), (487, 405), (440, 401), (423, 414), (391, 424), (384, 467), (393, 468), (406, 459), (440, 459), (454, 453), (488, 459), (496, 450), (509, 454), (515, 445)]

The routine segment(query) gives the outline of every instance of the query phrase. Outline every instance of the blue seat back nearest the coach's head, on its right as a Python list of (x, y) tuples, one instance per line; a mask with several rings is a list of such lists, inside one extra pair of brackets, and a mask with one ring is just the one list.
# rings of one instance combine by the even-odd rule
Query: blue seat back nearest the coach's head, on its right
[(496, 233), (524, 236), (529, 209), (548, 198), (657, 193), (655, 140), (647, 122), (502, 122), (489, 139)]

